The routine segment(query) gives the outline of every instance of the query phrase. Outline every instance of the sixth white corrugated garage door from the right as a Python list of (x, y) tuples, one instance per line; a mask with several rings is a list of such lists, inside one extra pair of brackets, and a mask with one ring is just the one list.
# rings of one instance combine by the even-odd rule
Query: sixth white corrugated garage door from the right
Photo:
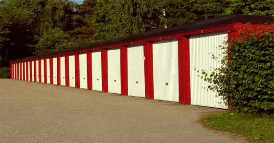
[(80, 88), (88, 89), (87, 53), (79, 54)]

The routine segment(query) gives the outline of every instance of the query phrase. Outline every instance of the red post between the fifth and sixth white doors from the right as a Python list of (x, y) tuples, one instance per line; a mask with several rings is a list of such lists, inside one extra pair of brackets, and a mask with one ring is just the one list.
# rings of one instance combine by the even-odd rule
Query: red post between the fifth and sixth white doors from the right
[(92, 53), (87, 52), (88, 89), (92, 90)]

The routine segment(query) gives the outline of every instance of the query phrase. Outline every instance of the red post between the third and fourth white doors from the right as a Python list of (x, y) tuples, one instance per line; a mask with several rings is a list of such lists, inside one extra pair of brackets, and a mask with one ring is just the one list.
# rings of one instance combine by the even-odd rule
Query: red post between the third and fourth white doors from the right
[(121, 95), (128, 95), (128, 50), (126, 46), (120, 46), (121, 62)]

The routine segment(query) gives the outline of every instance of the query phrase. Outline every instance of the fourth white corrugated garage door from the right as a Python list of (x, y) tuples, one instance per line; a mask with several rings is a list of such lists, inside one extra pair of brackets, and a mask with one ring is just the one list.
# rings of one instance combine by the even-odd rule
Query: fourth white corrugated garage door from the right
[(120, 48), (108, 49), (108, 85), (110, 93), (121, 94)]

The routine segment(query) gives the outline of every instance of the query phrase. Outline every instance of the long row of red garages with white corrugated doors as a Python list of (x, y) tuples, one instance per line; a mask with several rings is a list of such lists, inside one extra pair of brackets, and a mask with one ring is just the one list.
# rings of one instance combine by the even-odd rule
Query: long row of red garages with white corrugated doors
[(222, 54), (223, 50), (216, 47), (225, 46), (224, 41), (237, 31), (234, 26), (240, 25), (232, 22), (21, 59), (11, 62), (11, 77), (227, 109), (222, 98), (215, 96), (217, 93), (204, 89), (209, 83), (194, 69), (219, 67), (220, 62), (211, 57)]

